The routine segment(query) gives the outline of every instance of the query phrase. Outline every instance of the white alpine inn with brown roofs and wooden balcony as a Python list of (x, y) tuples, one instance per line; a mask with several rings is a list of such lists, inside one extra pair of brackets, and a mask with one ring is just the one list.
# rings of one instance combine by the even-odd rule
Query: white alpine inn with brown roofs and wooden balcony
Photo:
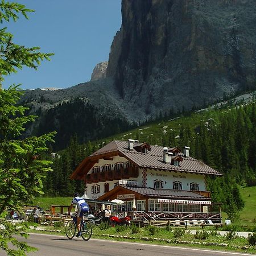
[[(112, 141), (85, 158), (71, 179), (85, 182), (90, 199), (121, 199), (118, 211), (164, 213), (165, 218), (220, 218), (210, 214), (207, 176), (221, 174), (189, 156), (189, 147)], [(215, 208), (216, 210), (216, 208)]]

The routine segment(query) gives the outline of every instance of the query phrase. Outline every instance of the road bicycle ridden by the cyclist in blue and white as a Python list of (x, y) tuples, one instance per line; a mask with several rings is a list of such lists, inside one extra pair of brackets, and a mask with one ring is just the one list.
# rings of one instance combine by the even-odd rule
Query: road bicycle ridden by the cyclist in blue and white
[[(77, 226), (76, 226), (76, 216), (73, 217), (73, 220), (67, 222), (65, 232), (68, 239), (75, 237)], [(80, 222), (80, 232), (83, 240), (88, 241), (92, 236), (92, 226), (88, 220), (84, 220), (84, 216), (81, 218)]]

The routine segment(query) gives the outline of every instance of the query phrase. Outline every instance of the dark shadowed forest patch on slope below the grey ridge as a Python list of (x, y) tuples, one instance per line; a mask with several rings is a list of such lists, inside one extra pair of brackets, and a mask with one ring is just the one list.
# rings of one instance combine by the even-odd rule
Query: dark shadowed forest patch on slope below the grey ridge
[[(40, 102), (44, 101), (44, 98), (40, 99)], [(57, 131), (55, 144), (52, 147), (61, 150), (68, 146), (67, 142), (74, 134), (77, 134), (80, 143), (84, 143), (106, 138), (133, 127), (123, 118), (102, 113), (106, 112), (102, 112), (101, 109), (81, 98), (71, 98), (47, 111), (43, 112), (41, 108), (36, 110), (35, 114), (39, 116), (40, 122), (32, 133), (42, 135), (53, 130)]]

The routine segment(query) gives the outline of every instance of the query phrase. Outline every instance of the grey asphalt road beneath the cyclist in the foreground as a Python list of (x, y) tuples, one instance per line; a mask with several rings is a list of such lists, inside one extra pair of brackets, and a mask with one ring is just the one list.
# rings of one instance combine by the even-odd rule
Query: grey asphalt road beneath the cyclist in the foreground
[[(52, 236), (45, 234), (30, 234), (27, 240), (28, 244), (37, 247), (39, 250), (28, 255), (40, 256), (73, 256), (73, 255), (146, 255), (146, 256), (236, 256), (236, 255), (252, 255), (243, 253), (222, 252), (203, 249), (189, 249), (176, 246), (160, 246), (160, 245), (145, 245), (132, 242), (117, 242), (110, 240), (90, 239), (84, 241), (82, 238), (73, 238), (68, 240), (66, 237)], [(2, 253), (2, 254), (1, 254)], [(0, 251), (0, 255), (3, 254)]]

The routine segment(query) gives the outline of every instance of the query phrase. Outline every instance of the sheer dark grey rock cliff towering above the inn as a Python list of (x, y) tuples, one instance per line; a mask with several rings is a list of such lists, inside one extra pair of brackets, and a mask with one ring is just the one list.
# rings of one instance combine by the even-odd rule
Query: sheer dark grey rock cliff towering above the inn
[(137, 118), (254, 88), (255, 24), (254, 0), (123, 0), (106, 76)]

